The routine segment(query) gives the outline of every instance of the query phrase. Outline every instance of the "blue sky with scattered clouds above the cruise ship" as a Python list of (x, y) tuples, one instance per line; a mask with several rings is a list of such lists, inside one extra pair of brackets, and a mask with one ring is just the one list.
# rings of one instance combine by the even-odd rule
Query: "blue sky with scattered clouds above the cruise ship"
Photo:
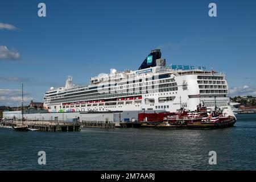
[[(46, 17), (38, 4), (46, 4)], [(217, 16), (210, 17), (209, 3)], [(0, 0), (0, 105), (43, 102), (68, 75), (138, 69), (152, 49), (167, 64), (224, 72), (230, 96), (256, 96), (256, 1)]]

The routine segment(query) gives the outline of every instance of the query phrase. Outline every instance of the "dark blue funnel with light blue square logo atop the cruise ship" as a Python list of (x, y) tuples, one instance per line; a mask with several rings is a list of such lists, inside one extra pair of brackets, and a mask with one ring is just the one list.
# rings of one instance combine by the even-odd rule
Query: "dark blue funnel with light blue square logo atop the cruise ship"
[(146, 59), (143, 61), (139, 69), (145, 69), (150, 67), (156, 66), (157, 59), (161, 58), (161, 52), (160, 49), (154, 49), (151, 51), (151, 53), (146, 57)]

